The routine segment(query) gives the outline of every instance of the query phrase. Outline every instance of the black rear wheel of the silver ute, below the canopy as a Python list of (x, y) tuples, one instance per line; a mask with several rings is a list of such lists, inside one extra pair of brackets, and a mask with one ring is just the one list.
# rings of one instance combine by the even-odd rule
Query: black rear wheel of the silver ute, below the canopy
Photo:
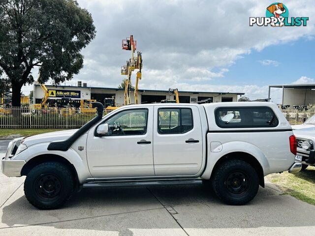
[(255, 169), (245, 161), (223, 162), (212, 177), (216, 195), (230, 205), (243, 205), (257, 194), (259, 179)]

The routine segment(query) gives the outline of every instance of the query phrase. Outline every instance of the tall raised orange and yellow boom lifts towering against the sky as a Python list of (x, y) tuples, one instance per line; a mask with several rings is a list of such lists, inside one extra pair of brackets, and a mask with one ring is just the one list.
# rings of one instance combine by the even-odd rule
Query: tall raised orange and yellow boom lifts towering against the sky
[(142, 57), (141, 52), (137, 52), (137, 57), (134, 57), (134, 52), (137, 47), (137, 41), (133, 40), (133, 36), (130, 35), (130, 37), (123, 39), (122, 48), (127, 51), (131, 51), (131, 58), (127, 60), (127, 64), (122, 66), (121, 68), (121, 74), (127, 75), (127, 79), (125, 82), (125, 105), (131, 104), (131, 98), (130, 98), (130, 85), (131, 85), (131, 74), (132, 71), (135, 69), (139, 69), (137, 72), (136, 77), (136, 84), (135, 84), (135, 91), (134, 91), (134, 101), (135, 104), (138, 104), (139, 102), (139, 95), (138, 95), (138, 82), (141, 80), (141, 69), (142, 69)]

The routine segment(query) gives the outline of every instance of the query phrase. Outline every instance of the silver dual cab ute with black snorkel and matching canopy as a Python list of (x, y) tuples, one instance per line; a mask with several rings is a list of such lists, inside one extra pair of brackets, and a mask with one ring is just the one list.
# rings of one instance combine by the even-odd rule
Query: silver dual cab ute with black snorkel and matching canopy
[(251, 201), (264, 176), (289, 170), (296, 139), (276, 104), (130, 105), (77, 130), (10, 142), (8, 177), (26, 176), (25, 196), (40, 209), (61, 207), (88, 187), (210, 184), (225, 203)]

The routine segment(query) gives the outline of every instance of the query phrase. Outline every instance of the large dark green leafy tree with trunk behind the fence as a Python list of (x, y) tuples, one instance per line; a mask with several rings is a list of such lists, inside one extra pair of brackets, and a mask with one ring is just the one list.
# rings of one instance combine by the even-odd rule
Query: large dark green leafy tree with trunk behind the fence
[(12, 105), (21, 88), (33, 83), (71, 80), (83, 67), (81, 49), (95, 38), (91, 14), (76, 0), (0, 0), (0, 73), (12, 86)]

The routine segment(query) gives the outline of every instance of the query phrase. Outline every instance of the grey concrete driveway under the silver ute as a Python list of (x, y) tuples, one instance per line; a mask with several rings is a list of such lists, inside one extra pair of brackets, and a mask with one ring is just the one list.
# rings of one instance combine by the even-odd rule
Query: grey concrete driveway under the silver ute
[(1, 236), (315, 235), (315, 206), (270, 183), (246, 206), (224, 205), (206, 186), (187, 185), (83, 189), (62, 209), (38, 210), (24, 196), (24, 179), (0, 174)]

